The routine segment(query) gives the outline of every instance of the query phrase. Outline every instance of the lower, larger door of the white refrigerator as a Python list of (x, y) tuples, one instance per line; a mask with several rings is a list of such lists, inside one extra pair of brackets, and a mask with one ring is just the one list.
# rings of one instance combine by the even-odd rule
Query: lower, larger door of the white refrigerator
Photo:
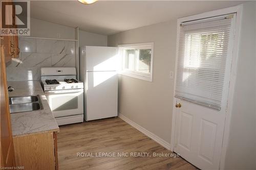
[(117, 116), (117, 85), (117, 71), (87, 72), (87, 121)]

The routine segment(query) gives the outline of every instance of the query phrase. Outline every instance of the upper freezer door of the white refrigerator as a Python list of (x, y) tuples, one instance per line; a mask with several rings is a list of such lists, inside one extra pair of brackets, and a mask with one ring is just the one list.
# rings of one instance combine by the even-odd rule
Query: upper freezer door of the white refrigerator
[(117, 56), (117, 47), (86, 46), (86, 70), (115, 71), (120, 64)]

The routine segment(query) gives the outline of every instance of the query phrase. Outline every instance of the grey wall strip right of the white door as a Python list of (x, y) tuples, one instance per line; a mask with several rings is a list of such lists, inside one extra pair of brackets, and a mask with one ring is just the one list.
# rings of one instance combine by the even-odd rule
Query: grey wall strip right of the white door
[(225, 169), (256, 169), (256, 2), (245, 3)]

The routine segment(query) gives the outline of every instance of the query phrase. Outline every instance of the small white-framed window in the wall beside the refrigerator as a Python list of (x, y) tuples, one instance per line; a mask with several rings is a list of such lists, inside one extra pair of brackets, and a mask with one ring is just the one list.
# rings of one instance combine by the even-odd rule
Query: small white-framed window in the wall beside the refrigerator
[(152, 81), (153, 43), (119, 45), (122, 56), (120, 74)]

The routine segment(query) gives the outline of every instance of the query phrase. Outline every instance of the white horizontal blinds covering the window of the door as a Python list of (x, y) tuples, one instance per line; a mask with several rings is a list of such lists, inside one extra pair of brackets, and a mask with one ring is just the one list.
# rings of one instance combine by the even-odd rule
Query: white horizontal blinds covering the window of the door
[(180, 24), (176, 98), (221, 110), (231, 62), (232, 18), (230, 14)]

